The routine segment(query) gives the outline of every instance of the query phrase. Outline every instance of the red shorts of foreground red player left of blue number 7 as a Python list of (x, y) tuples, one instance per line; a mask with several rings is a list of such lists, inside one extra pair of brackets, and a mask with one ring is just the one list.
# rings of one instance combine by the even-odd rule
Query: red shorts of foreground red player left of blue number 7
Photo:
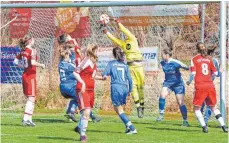
[(78, 93), (78, 103), (79, 109), (91, 109), (94, 106), (94, 90), (86, 90), (83, 94), (79, 91)]

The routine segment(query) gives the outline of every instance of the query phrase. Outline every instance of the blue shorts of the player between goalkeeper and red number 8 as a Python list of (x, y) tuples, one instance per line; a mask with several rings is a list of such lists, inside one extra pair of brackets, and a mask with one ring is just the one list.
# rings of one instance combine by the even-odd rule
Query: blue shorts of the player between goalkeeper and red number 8
[(185, 94), (185, 86), (184, 83), (171, 84), (169, 82), (164, 82), (163, 87), (167, 87), (169, 90), (174, 91), (175, 95), (177, 94)]

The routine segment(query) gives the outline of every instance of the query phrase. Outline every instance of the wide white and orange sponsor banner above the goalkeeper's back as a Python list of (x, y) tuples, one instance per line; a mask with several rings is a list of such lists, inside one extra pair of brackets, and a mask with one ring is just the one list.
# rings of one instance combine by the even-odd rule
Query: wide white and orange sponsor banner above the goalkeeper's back
[(198, 4), (109, 8), (125, 26), (176, 26), (200, 23)]

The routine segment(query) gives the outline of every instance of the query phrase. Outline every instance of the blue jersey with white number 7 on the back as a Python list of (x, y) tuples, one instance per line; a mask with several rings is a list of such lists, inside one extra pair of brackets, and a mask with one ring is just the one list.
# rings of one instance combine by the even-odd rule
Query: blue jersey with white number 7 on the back
[(117, 60), (110, 61), (104, 70), (103, 76), (111, 76), (111, 85), (119, 84), (129, 87), (129, 92), (132, 91), (132, 78), (128, 69), (128, 65)]

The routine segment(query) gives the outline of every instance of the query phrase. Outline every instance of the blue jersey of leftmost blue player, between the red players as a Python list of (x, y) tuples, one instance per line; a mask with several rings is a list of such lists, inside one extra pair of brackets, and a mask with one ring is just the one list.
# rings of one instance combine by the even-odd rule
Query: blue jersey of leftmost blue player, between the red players
[(61, 83), (76, 82), (76, 79), (73, 75), (75, 70), (75, 65), (71, 62), (61, 61), (58, 65), (58, 70), (60, 74)]

